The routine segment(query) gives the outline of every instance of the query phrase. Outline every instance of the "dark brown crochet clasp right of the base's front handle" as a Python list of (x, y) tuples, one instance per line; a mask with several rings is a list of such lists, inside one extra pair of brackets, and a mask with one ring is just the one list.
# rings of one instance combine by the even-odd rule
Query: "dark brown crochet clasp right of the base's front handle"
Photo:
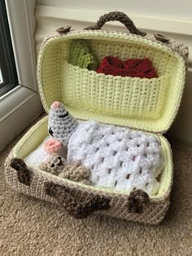
[(130, 193), (129, 196), (129, 212), (142, 214), (144, 207), (149, 204), (150, 199), (146, 192), (137, 189)]

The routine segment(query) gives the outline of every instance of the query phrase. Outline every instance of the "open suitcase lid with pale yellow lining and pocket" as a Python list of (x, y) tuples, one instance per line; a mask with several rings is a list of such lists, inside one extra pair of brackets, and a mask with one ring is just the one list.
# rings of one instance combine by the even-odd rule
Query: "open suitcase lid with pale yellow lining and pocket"
[[(120, 77), (96, 73), (68, 63), (72, 40), (85, 39), (98, 62), (107, 55), (149, 58), (158, 78)], [(188, 48), (172, 39), (105, 30), (52, 33), (41, 45), (37, 80), (42, 104), (59, 100), (76, 118), (164, 133), (181, 103)]]

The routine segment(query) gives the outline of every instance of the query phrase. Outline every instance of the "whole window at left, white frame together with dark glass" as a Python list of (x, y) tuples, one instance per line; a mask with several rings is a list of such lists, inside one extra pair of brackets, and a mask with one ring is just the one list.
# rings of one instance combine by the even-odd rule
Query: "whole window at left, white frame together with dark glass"
[(42, 113), (35, 7), (36, 0), (0, 0), (0, 151)]

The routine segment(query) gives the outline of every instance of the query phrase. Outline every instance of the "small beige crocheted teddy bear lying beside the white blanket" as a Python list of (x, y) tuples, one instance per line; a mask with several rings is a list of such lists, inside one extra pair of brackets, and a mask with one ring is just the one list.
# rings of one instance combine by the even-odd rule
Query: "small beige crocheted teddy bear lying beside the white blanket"
[(81, 165), (81, 161), (74, 161), (71, 165), (68, 165), (63, 157), (53, 156), (42, 162), (39, 168), (63, 179), (70, 179), (87, 185), (91, 184), (88, 179), (89, 170)]

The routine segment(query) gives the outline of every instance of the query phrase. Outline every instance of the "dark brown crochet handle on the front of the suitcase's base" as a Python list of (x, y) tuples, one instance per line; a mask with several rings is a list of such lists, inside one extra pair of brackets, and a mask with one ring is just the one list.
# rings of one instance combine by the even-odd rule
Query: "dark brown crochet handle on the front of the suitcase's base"
[(74, 218), (86, 218), (96, 210), (108, 210), (110, 199), (104, 196), (93, 196), (87, 201), (77, 201), (73, 196), (72, 188), (55, 184), (45, 183), (45, 191), (49, 196), (55, 197), (64, 210)]

